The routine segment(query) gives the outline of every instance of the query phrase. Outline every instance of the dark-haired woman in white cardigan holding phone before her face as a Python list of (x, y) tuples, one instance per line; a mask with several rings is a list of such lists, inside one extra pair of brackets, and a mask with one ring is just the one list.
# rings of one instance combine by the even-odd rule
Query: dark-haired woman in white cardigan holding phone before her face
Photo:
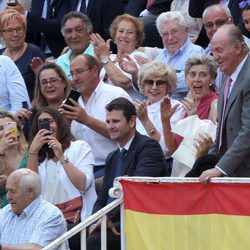
[[(40, 127), (44, 119), (50, 131)], [(58, 205), (82, 197), (81, 220), (92, 212), (96, 200), (94, 157), (85, 141), (75, 140), (64, 117), (49, 107), (37, 112), (31, 131), (27, 167), (39, 173), (42, 196)]]

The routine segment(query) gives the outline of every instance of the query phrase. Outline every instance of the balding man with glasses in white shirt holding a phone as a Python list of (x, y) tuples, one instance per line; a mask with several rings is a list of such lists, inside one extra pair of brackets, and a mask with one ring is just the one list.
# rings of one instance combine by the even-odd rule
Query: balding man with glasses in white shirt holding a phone
[(81, 96), (78, 102), (70, 99), (73, 107), (62, 104), (59, 111), (72, 121), (71, 132), (75, 138), (90, 145), (95, 158), (95, 178), (99, 178), (104, 174), (108, 153), (117, 148), (107, 132), (105, 106), (117, 97), (129, 100), (130, 97), (122, 88), (100, 80), (100, 65), (93, 56), (76, 56), (71, 61), (70, 73), (73, 85)]

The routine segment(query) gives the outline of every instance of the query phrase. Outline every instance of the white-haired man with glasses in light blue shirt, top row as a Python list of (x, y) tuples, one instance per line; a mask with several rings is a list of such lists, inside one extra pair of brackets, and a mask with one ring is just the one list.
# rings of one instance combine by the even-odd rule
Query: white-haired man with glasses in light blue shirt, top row
[(179, 11), (160, 14), (156, 20), (156, 27), (164, 49), (155, 60), (166, 63), (176, 70), (177, 86), (172, 98), (182, 100), (188, 92), (184, 74), (185, 62), (192, 55), (202, 54), (203, 49), (191, 42), (185, 18)]

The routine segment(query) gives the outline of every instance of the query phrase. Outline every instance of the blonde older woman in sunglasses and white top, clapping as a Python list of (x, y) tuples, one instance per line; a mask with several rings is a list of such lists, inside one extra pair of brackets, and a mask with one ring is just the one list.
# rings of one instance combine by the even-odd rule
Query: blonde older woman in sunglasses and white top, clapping
[(138, 72), (138, 85), (140, 91), (148, 97), (144, 101), (135, 101), (138, 115), (136, 124), (141, 134), (148, 135), (157, 140), (166, 158), (170, 158), (172, 149), (168, 142), (164, 141), (161, 122), (160, 105), (163, 99), (169, 102), (173, 109), (170, 125), (174, 126), (183, 117), (184, 110), (179, 101), (171, 98), (176, 88), (176, 74), (169, 66), (161, 62), (144, 64)]

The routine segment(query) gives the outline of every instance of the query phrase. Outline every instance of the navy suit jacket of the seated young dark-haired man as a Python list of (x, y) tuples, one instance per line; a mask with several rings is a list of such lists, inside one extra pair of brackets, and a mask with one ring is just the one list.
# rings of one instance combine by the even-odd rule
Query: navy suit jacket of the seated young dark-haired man
[[(113, 187), (115, 168), (119, 149), (111, 152), (105, 163), (105, 175), (101, 192), (95, 202), (93, 213), (97, 212), (107, 204), (108, 191)], [(122, 175), (128, 176), (166, 176), (165, 159), (159, 143), (147, 136), (136, 132), (126, 155), (126, 163)], [(113, 209), (108, 217), (119, 220), (119, 208)]]

